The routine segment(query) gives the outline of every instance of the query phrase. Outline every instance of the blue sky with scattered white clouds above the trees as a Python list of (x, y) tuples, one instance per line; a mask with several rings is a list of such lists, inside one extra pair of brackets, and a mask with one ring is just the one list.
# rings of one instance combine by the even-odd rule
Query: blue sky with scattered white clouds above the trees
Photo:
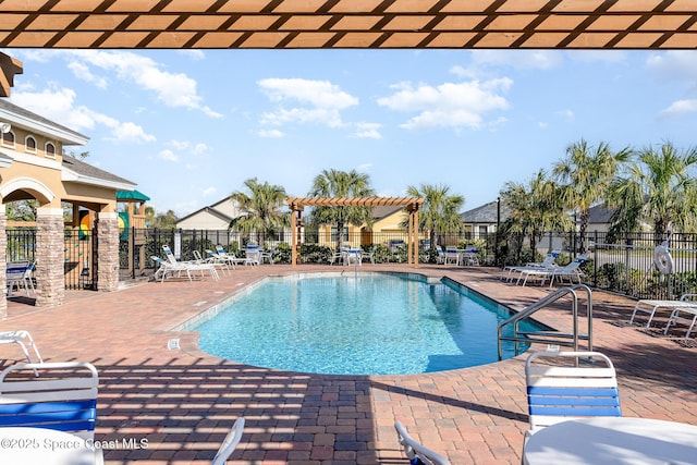
[(180, 217), (244, 181), (305, 196), (325, 169), (464, 210), (582, 138), (695, 145), (697, 51), (30, 50), (10, 101), (87, 135), (87, 162)]

